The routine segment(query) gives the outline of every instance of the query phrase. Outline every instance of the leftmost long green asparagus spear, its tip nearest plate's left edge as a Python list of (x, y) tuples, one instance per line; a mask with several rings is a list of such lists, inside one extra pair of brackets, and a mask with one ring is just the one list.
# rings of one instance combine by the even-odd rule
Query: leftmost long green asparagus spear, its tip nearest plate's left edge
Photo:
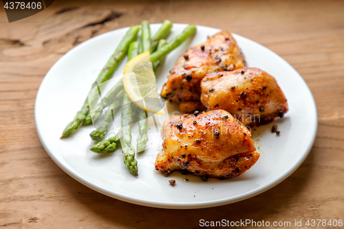
[[(118, 44), (114, 54), (112, 54), (112, 56), (109, 58), (109, 61), (107, 61), (105, 67), (101, 70), (100, 74), (96, 78), (96, 81), (94, 81), (94, 83), (92, 84), (92, 88), (97, 87), (98, 85), (100, 85), (100, 83), (103, 83), (111, 78), (115, 69), (120, 65), (120, 62), (127, 55), (129, 44), (136, 39), (138, 30), (140, 30), (138, 25), (131, 26), (129, 28), (125, 36), (122, 38), (122, 41), (120, 41), (120, 43)], [(86, 115), (89, 112), (89, 105), (92, 106), (98, 98), (98, 91), (92, 91), (94, 91), (94, 93), (86, 98), (83, 107), (81, 107), (80, 111), (76, 113), (74, 120), (72, 122), (69, 122), (69, 124), (67, 124), (67, 127), (65, 127), (61, 138), (67, 138), (69, 135), (79, 129), (81, 124), (83, 124)]]

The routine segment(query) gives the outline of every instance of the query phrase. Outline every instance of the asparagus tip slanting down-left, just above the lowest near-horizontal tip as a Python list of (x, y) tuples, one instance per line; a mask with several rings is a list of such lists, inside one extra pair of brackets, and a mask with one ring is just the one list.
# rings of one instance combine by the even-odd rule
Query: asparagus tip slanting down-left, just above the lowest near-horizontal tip
[(97, 129), (89, 134), (92, 140), (98, 141), (104, 138), (105, 134), (107, 133), (107, 129), (109, 128), (109, 125), (113, 121), (114, 113), (116, 113), (116, 110), (118, 109), (118, 107), (120, 107), (120, 102), (122, 101), (123, 93), (125, 93), (124, 89), (122, 89), (122, 91), (118, 93), (114, 102), (112, 102), (111, 105), (107, 107), (107, 111), (105, 112), (104, 117), (100, 121)]

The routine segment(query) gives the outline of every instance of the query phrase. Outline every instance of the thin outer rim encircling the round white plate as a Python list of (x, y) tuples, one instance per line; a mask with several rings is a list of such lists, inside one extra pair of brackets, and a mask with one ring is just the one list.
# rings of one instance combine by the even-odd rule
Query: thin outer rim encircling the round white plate
[[(161, 25), (162, 23), (152, 23), (151, 25)], [(186, 26), (188, 24), (185, 23), (173, 23), (173, 25), (182, 25), (182, 26)], [(206, 29), (215, 29), (215, 30), (220, 30), (217, 28), (212, 28), (212, 27), (208, 27), (208, 26), (204, 26), (204, 25), (196, 25), (197, 28), (206, 28)], [(294, 166), (291, 166), (288, 169), (287, 173), (283, 173), (283, 175), (281, 175), (278, 179), (275, 179), (273, 182), (270, 182), (268, 185), (265, 186), (261, 186), (257, 189), (254, 190), (250, 190), (247, 193), (244, 193), (242, 195), (235, 196), (235, 197), (228, 197), (226, 199), (217, 199), (217, 200), (212, 200), (212, 201), (201, 201), (198, 203), (186, 203), (186, 204), (162, 204), (160, 201), (146, 201), (146, 200), (141, 200), (138, 199), (136, 197), (127, 197), (127, 196), (123, 196), (121, 194), (114, 194), (114, 193), (109, 193), (107, 190), (105, 190), (104, 188), (102, 188), (101, 186), (98, 186), (97, 184), (92, 184), (92, 182), (87, 181), (87, 179), (84, 179), (82, 176), (79, 175), (79, 173), (77, 171), (74, 171), (73, 168), (70, 168), (67, 164), (63, 164), (62, 162), (60, 162), (54, 155), (54, 153), (50, 152), (47, 149), (47, 146), (45, 145), (45, 142), (43, 142), (43, 138), (41, 136), (41, 133), (39, 132), (39, 128), (38, 128), (38, 122), (36, 120), (36, 113), (37, 111), (37, 98), (39, 97), (40, 91), (41, 91), (41, 87), (43, 85), (43, 83), (46, 80), (46, 76), (52, 71), (52, 69), (54, 69), (54, 67), (56, 67), (56, 65), (58, 65), (58, 63), (67, 55), (71, 54), (72, 52), (75, 52), (76, 50), (82, 48), (84, 45), (87, 45), (87, 43), (92, 42), (96, 39), (99, 39), (101, 36), (107, 36), (108, 34), (112, 33), (112, 32), (118, 32), (119, 30), (127, 30), (129, 27), (125, 27), (125, 28), (118, 28), (116, 30), (111, 30), (109, 32), (105, 32), (103, 34), (100, 34), (98, 36), (94, 36), (91, 39), (88, 39), (87, 41), (84, 41), (83, 43), (80, 43), (79, 45), (76, 45), (76, 47), (73, 47), (71, 50), (69, 50), (67, 53), (65, 53), (63, 56), (61, 56), (61, 58), (58, 59), (58, 61), (56, 61), (56, 63), (54, 63), (54, 65), (52, 65), (52, 67), (49, 69), (49, 71), (47, 72), (47, 74), (45, 74), (41, 85), (39, 86), (39, 89), (37, 91), (36, 94), (36, 98), (35, 98), (35, 103), (34, 103), (34, 122), (35, 122), (35, 127), (36, 127), (36, 132), (37, 135), (39, 136), (39, 140), (41, 141), (41, 144), (43, 145), (43, 148), (45, 149), (45, 151), (47, 152), (47, 154), (52, 158), (52, 160), (54, 161), (55, 164), (58, 165), (58, 167), (60, 167), (65, 173), (67, 173), (70, 177), (72, 177), (73, 179), (76, 179), (76, 181), (80, 182), (81, 184), (87, 186), (88, 188), (91, 188), (92, 190), (96, 190), (98, 193), (102, 193), (103, 195), (107, 195), (109, 197), (112, 197), (114, 199), (119, 199), (121, 201), (125, 201), (125, 202), (129, 202), (131, 204), (138, 204), (140, 206), (148, 206), (148, 207), (155, 207), (155, 208), (167, 208), (167, 209), (197, 209), (197, 208), (211, 208), (211, 207), (215, 207), (215, 206), (223, 206), (226, 204), (233, 204), (235, 202), (238, 201), (242, 201), (244, 199), (249, 199), (250, 197), (254, 197), (256, 195), (259, 195), (261, 193), (266, 192), (266, 190), (269, 190), (270, 188), (273, 188), (275, 186), (277, 186), (277, 184), (280, 184), (281, 182), (283, 182), (284, 179), (288, 178), (290, 175), (292, 175), (292, 173), (294, 173), (294, 171), (297, 170), (297, 168), (299, 168), (299, 166), (301, 166), (301, 164), (303, 163), (303, 161), (305, 160), (306, 157), (308, 157), (312, 146), (314, 145), (314, 140), (316, 138), (316, 131), (318, 129), (318, 113), (317, 113), (317, 109), (316, 109), (316, 102), (314, 100), (314, 96), (312, 94), (312, 91), (310, 90), (310, 88), (308, 87), (307, 83), (305, 82), (305, 80), (302, 78), (302, 76), (299, 74), (299, 72), (297, 72), (296, 69), (294, 69), (294, 67), (292, 67), (292, 65), (290, 65), (290, 63), (288, 63), (286, 60), (284, 60), (281, 56), (279, 56), (278, 54), (276, 54), (275, 52), (273, 52), (272, 50), (268, 49), (268, 47), (265, 47), (264, 45), (261, 45), (259, 43), (257, 43), (256, 41), (252, 41), (244, 36), (235, 34), (233, 32), (231, 32), (231, 34), (233, 34), (234, 36), (240, 37), (240, 39), (244, 39), (246, 41), (255, 43), (255, 45), (259, 45), (261, 47), (264, 47), (264, 49), (267, 52), (270, 52), (271, 54), (273, 54), (276, 58), (279, 58), (281, 61), (283, 61), (284, 63), (286, 63), (293, 71), (295, 74), (297, 74), (297, 76), (299, 76), (299, 78), (301, 78), (301, 80), (303, 81), (305, 88), (308, 90), (308, 94), (310, 94), (310, 98), (311, 101), (309, 101), (311, 104), (312, 109), (314, 109), (314, 124), (313, 124), (313, 128), (314, 131), (312, 132), (312, 138), (310, 138), (310, 142), (308, 143), (308, 146), (306, 147), (307, 151), (306, 153), (303, 153), (303, 156), (299, 158), (299, 160), (294, 164)]]

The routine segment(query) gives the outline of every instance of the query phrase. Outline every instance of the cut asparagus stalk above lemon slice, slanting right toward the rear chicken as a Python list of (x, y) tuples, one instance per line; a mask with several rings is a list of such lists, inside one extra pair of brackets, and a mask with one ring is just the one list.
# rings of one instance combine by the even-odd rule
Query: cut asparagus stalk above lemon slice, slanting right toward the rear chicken
[(188, 25), (184, 31), (179, 34), (178, 36), (175, 36), (167, 45), (164, 45), (160, 48), (160, 50), (156, 50), (151, 54), (151, 62), (154, 63), (155, 61), (158, 61), (162, 56), (166, 56), (174, 50), (176, 47), (178, 47), (180, 44), (182, 44), (189, 36), (194, 34), (196, 32), (196, 26), (195, 25)]

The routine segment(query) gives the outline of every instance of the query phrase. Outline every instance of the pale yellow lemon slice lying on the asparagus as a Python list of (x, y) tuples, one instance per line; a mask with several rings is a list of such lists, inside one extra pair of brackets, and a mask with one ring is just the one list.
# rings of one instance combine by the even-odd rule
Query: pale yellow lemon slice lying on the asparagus
[(130, 100), (138, 107), (151, 113), (164, 113), (158, 100), (158, 87), (149, 52), (135, 56), (125, 65), (123, 85)]

